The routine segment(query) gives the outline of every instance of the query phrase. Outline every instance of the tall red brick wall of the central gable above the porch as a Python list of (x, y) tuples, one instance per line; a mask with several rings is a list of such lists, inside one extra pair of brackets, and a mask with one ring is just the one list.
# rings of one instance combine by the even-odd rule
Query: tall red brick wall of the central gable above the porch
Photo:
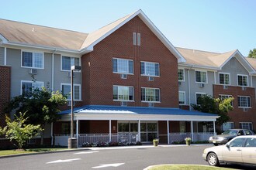
[[(133, 32), (141, 35), (141, 46), (133, 45)], [(112, 73), (112, 58), (133, 59), (133, 75), (121, 79)], [(140, 75), (140, 62), (159, 63), (160, 77), (148, 81)], [(103, 39), (92, 53), (81, 57), (82, 96), (85, 104), (120, 105), (113, 101), (113, 85), (134, 87), (134, 100), (128, 106), (145, 106), (141, 102), (141, 87), (160, 88), (161, 102), (155, 107), (178, 107), (177, 58), (157, 39), (139, 18), (135, 17)]]

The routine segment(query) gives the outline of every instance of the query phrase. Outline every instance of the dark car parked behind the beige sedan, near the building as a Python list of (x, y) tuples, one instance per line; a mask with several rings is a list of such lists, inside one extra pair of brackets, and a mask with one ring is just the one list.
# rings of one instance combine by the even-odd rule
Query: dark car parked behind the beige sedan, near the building
[(253, 135), (254, 132), (247, 130), (247, 129), (230, 129), (227, 131), (224, 131), (222, 134), (212, 136), (209, 138), (209, 143), (213, 143), (213, 145), (220, 145), (220, 144), (226, 144), (231, 139), (235, 138), (236, 136), (241, 135)]

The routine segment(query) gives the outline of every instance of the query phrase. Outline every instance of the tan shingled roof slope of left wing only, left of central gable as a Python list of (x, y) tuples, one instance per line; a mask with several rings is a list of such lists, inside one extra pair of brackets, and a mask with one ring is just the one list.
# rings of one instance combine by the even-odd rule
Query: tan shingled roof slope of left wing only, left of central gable
[[(0, 19), (0, 34), (8, 44), (76, 50), (88, 34)], [(1, 38), (1, 37), (0, 37)]]

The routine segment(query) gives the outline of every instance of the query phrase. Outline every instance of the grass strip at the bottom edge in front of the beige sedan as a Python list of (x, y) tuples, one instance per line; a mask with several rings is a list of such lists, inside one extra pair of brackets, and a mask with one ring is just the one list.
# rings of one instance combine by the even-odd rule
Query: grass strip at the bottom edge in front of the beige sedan
[(220, 167), (213, 167), (213, 166), (206, 166), (206, 165), (178, 165), (178, 164), (174, 164), (174, 165), (156, 165), (153, 166), (152, 168), (148, 168), (148, 170), (176, 170), (176, 169), (182, 169), (182, 170), (214, 170), (214, 169), (220, 169), (220, 170), (224, 170), (224, 169), (233, 169), (233, 168), (220, 168)]

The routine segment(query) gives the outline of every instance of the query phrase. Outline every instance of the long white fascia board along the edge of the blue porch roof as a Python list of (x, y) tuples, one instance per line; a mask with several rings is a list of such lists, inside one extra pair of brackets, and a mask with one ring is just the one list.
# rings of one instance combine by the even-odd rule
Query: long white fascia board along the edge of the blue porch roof
[[(70, 121), (71, 114), (61, 116), (61, 121)], [(216, 121), (220, 116), (152, 115), (152, 114), (74, 114), (74, 120), (118, 120), (118, 121)]]

